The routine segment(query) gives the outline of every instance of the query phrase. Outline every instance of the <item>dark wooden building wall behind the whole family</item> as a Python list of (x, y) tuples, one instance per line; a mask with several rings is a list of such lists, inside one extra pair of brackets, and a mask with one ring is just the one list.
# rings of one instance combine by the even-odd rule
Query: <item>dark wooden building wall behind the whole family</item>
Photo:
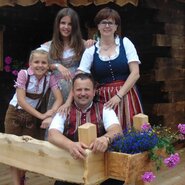
[[(140, 0), (138, 7), (73, 7), (79, 14), (82, 34), (90, 38), (93, 18), (99, 9), (111, 6), (122, 18), (122, 35), (135, 44), (140, 60), (138, 88), (150, 123), (176, 128), (185, 121), (185, 3), (177, 0)], [(61, 7), (37, 3), (30, 7), (1, 7), (4, 57), (27, 61), (29, 52), (51, 39), (53, 20)], [(14, 78), (0, 71), (0, 130), (8, 102), (14, 93)], [(5, 93), (6, 92), (6, 93)]]

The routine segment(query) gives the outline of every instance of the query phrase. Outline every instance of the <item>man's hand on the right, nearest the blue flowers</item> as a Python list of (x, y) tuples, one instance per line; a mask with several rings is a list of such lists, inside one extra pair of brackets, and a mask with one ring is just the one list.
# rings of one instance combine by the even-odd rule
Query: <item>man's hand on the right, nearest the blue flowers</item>
[(93, 143), (90, 145), (92, 152), (105, 152), (108, 148), (109, 142), (105, 136), (96, 138)]

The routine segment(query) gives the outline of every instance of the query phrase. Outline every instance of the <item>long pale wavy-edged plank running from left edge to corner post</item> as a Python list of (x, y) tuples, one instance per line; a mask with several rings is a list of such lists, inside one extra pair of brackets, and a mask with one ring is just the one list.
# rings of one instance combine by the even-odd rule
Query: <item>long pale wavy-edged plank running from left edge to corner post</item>
[(84, 162), (47, 141), (0, 133), (0, 162), (64, 181), (83, 183)]

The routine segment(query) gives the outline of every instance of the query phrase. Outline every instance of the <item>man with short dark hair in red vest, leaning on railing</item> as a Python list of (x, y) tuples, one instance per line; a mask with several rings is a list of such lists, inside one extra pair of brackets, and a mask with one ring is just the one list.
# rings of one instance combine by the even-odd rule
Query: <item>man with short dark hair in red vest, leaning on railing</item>
[[(105, 152), (111, 139), (115, 134), (122, 134), (122, 130), (115, 112), (106, 109), (102, 103), (93, 101), (95, 82), (90, 74), (77, 74), (73, 79), (72, 92), (74, 102), (70, 113), (67, 117), (56, 114), (49, 128), (48, 140), (69, 151), (74, 159), (83, 160), (86, 157), (86, 148), (93, 152)], [(78, 126), (86, 122), (95, 124), (98, 134), (89, 147), (78, 142)], [(55, 185), (68, 184), (70, 183), (55, 183)]]

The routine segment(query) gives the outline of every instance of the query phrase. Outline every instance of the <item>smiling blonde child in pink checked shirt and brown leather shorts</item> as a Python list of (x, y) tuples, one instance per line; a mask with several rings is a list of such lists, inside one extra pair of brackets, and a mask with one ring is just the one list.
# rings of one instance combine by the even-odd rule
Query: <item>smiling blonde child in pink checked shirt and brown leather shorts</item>
[[(36, 124), (35, 118), (44, 120), (53, 116), (63, 103), (57, 81), (48, 72), (48, 69), (48, 52), (32, 51), (29, 68), (18, 73), (15, 83), (16, 93), (9, 103), (5, 117), (5, 133), (37, 137), (40, 128)], [(54, 94), (55, 102), (51, 109), (41, 113), (37, 109), (49, 88)], [(41, 127), (44, 126), (41, 125)], [(11, 167), (11, 173), (14, 185), (24, 185), (25, 171)]]

